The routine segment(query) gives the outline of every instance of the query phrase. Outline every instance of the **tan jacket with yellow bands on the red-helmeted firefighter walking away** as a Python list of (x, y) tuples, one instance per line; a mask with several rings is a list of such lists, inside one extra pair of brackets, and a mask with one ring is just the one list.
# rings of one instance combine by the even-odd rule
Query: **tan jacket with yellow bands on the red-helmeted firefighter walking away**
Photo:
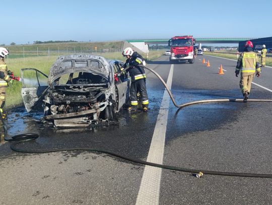
[(255, 71), (258, 74), (261, 73), (258, 56), (252, 51), (251, 47), (245, 47), (244, 52), (238, 58), (235, 73), (239, 74), (240, 71), (241, 76), (250, 76)]

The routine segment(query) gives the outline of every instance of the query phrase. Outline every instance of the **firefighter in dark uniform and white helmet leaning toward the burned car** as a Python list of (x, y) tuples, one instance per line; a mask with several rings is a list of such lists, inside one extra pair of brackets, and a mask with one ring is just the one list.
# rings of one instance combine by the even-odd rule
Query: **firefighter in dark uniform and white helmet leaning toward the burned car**
[(125, 48), (122, 52), (122, 55), (127, 58), (124, 67), (129, 66), (129, 69), (127, 71), (129, 72), (129, 76), (131, 77), (130, 107), (128, 107), (128, 110), (137, 109), (137, 93), (140, 93), (143, 110), (147, 112), (149, 101), (146, 88), (146, 73), (143, 67), (137, 66), (139, 64), (145, 65), (145, 60), (142, 55), (134, 52), (130, 47)]

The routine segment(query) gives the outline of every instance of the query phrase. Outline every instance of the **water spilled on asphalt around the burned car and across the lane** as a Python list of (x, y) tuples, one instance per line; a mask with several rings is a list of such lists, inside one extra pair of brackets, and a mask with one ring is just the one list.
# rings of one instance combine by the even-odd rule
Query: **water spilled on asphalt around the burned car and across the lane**
[[(237, 91), (208, 91), (208, 90), (172, 90), (173, 96), (177, 104), (187, 103), (191, 101), (204, 100), (204, 99), (218, 99), (218, 98), (234, 98)], [(124, 130), (134, 130), (135, 126), (141, 127), (142, 124), (147, 126), (154, 126), (157, 120), (158, 112), (161, 105), (163, 96), (163, 89), (155, 89), (149, 92), (150, 109), (148, 113), (139, 112), (137, 114), (131, 114), (126, 110), (121, 110), (118, 114), (118, 122), (115, 124), (99, 124), (97, 127), (86, 127), (86, 128), (54, 128), (45, 126), (40, 119), (43, 117), (43, 113), (27, 113), (24, 107), (19, 107), (13, 110), (8, 115), (8, 136), (11, 137), (21, 133), (38, 133), (40, 136), (44, 136), (44, 140), (48, 137), (58, 136), (71, 136), (72, 141), (75, 141), (78, 136), (91, 136), (94, 138), (106, 139), (115, 132), (124, 132)], [(254, 106), (252, 104), (252, 106)], [(189, 107), (185, 107), (178, 111), (170, 100), (170, 108), (168, 118), (170, 121), (178, 122), (177, 126), (180, 126), (180, 122), (193, 123), (197, 117), (201, 117), (202, 120), (206, 116), (212, 116), (210, 124), (213, 120), (220, 121), (224, 116), (222, 110), (225, 110), (226, 114), (228, 110), (235, 111), (237, 109), (237, 103), (205, 103), (197, 104)], [(221, 114), (220, 114), (221, 113)], [(224, 115), (224, 114), (223, 114)], [(188, 117), (189, 116), (189, 117)], [(211, 125), (208, 125), (209, 127)], [(206, 128), (207, 128), (206, 127)], [(93, 140), (98, 140), (93, 139)], [(42, 140), (42, 139), (40, 139)], [(43, 140), (42, 140), (43, 141)]]

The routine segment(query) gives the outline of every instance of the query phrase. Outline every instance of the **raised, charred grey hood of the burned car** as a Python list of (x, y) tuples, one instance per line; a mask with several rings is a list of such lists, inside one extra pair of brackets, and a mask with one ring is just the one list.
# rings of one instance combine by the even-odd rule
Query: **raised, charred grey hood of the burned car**
[(109, 79), (110, 64), (107, 60), (99, 55), (66, 55), (60, 56), (51, 66), (48, 84), (51, 85), (55, 79), (76, 71), (94, 72)]

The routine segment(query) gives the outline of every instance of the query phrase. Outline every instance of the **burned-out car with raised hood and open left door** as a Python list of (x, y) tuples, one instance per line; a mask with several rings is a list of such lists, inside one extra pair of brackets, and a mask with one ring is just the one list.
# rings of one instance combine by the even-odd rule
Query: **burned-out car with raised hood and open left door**
[(59, 57), (49, 75), (21, 69), (27, 112), (44, 111), (54, 126), (88, 126), (114, 120), (129, 98), (130, 78), (122, 61), (78, 54)]

